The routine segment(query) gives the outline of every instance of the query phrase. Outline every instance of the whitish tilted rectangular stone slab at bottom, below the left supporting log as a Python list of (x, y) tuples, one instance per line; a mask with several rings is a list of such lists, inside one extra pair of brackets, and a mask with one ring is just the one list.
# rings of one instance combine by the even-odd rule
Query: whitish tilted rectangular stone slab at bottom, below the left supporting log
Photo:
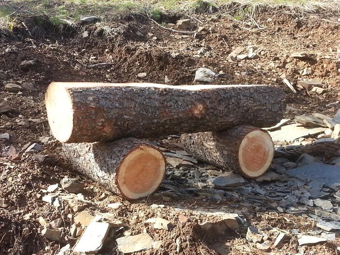
[(86, 254), (97, 254), (109, 233), (110, 225), (107, 222), (92, 221), (88, 224), (83, 236), (75, 245), (73, 251)]

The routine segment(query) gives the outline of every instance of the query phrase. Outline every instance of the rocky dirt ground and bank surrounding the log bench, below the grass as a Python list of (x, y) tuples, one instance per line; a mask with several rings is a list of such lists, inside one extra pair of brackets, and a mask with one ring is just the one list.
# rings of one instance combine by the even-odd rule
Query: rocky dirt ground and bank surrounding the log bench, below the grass
[[(74, 254), (339, 254), (340, 15), (263, 6), (239, 20), (235, 12), (192, 14), (188, 28), (171, 25), (187, 16), (157, 20), (192, 34), (142, 16), (61, 27), (26, 17), (0, 32), (0, 255), (66, 255), (68, 247)], [(199, 77), (198, 68), (210, 74)], [(158, 137), (171, 158), (166, 179), (130, 203), (63, 162), (44, 107), (52, 81), (190, 85), (195, 76), (285, 90), (290, 120), (271, 131), (281, 138), (266, 175), (223, 172), (187, 155), (178, 134)], [(294, 136), (302, 114), (309, 119), (296, 121), (305, 133)]]

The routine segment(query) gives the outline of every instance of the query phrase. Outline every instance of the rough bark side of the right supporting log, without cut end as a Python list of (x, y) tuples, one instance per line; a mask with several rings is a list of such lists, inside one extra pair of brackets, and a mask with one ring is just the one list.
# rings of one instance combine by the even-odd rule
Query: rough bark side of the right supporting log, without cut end
[[(182, 134), (181, 140), (187, 153), (195, 158), (221, 169), (240, 173), (248, 178), (257, 178), (259, 175), (256, 177), (247, 175), (238, 160), (238, 151), (242, 140), (255, 130), (266, 133), (264, 130), (250, 125), (240, 125), (219, 132)], [(274, 150), (274, 146), (272, 150)]]

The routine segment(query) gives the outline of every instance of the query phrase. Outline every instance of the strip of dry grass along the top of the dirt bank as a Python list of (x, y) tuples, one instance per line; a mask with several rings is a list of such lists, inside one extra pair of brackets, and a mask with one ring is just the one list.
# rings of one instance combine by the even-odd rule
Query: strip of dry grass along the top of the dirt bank
[(242, 19), (244, 15), (254, 17), (261, 8), (282, 5), (298, 12), (320, 9), (340, 12), (340, 0), (4, 0), (0, 3), (0, 28), (13, 28), (19, 16), (41, 15), (49, 17), (54, 25), (66, 20), (74, 22), (84, 15), (110, 20), (131, 14), (145, 15), (147, 12), (156, 20), (163, 13), (171, 12), (233, 12), (235, 19)]

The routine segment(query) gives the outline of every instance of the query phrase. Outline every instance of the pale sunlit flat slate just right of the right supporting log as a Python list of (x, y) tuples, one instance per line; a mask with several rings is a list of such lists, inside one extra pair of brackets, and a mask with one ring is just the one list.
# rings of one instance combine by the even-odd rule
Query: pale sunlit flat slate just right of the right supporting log
[(326, 131), (327, 128), (317, 127), (317, 128), (307, 128), (301, 126), (301, 124), (291, 124), (281, 127), (281, 129), (269, 132), (273, 141), (280, 142), (292, 142), (300, 137), (305, 136), (315, 136)]

